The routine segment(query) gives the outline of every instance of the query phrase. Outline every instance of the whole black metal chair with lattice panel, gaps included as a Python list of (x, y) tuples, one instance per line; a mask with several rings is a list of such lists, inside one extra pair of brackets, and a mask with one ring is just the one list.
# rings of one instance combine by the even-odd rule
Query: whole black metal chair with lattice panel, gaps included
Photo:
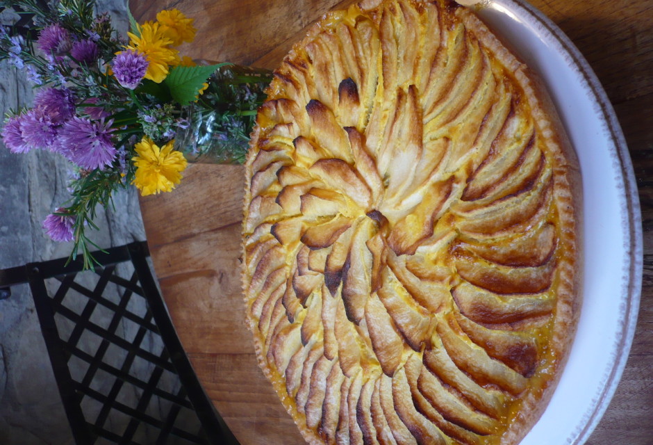
[(0, 270), (28, 282), (79, 445), (238, 444), (204, 393), (151, 274), (147, 243)]

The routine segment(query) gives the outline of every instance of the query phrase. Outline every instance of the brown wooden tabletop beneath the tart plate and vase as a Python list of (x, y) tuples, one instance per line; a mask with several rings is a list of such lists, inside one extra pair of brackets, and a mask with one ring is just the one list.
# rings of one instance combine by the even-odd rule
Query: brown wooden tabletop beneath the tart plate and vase
[[(194, 58), (274, 68), (336, 0), (132, 2), (139, 22), (172, 6), (195, 17)], [(615, 106), (635, 166), (644, 281), (627, 368), (588, 444), (653, 444), (653, 2), (531, 0), (579, 47)], [(258, 370), (240, 293), (242, 167), (191, 165), (174, 193), (142, 199), (163, 296), (197, 375), (243, 445), (303, 444)]]

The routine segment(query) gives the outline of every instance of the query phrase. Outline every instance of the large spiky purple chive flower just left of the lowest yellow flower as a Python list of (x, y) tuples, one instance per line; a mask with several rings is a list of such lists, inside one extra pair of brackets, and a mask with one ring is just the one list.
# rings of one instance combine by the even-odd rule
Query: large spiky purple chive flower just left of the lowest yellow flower
[(59, 131), (58, 147), (70, 161), (86, 170), (103, 169), (115, 159), (116, 149), (111, 142), (113, 120), (92, 122), (72, 118)]

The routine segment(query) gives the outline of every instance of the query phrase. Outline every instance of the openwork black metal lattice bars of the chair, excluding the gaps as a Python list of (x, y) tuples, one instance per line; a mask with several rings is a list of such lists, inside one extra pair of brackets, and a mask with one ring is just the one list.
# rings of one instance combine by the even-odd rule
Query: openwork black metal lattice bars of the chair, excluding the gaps
[[(156, 444), (165, 444), (171, 437), (185, 439), (186, 443), (238, 444), (220, 414), (213, 407), (213, 403), (204, 393), (190, 360), (183, 351), (181, 341), (179, 341), (167, 313), (165, 302), (160, 296), (149, 264), (147, 264), (147, 256), (149, 256), (149, 250), (145, 242), (110, 248), (106, 252), (95, 252), (94, 257), (98, 259), (101, 266), (94, 270), (99, 278), (92, 291), (74, 281), (76, 275), (82, 272), (81, 259), (71, 261), (69, 264), (66, 264), (67, 259), (56, 259), (0, 270), (0, 298), (10, 296), (10, 286), (25, 282), (29, 284), (58, 389), (77, 444), (94, 444), (99, 437), (104, 437), (117, 444), (135, 444), (133, 436), (141, 423), (147, 424), (149, 428), (159, 430)], [(117, 264), (126, 261), (130, 261), (134, 268), (130, 279), (114, 274)], [(53, 277), (60, 282), (60, 285), (56, 293), (49, 296), (45, 280)], [(102, 296), (102, 292), (109, 282), (124, 289), (117, 304)], [(81, 314), (77, 314), (63, 305), (66, 293), (71, 289), (88, 298)], [(144, 317), (132, 314), (127, 310), (130, 298), (136, 294), (142, 296), (147, 302), (148, 310)], [(107, 328), (90, 321), (90, 317), (98, 305), (113, 311), (113, 317)], [(55, 314), (74, 323), (74, 328), (67, 340), (60, 337)], [(124, 318), (138, 324), (138, 333), (131, 342), (115, 334), (118, 324)], [(85, 331), (101, 337), (101, 343), (94, 355), (77, 348), (77, 343)], [(160, 334), (164, 345), (160, 355), (140, 348), (147, 332)], [(120, 369), (103, 361), (112, 343), (127, 351)], [(73, 356), (89, 364), (81, 381), (74, 380), (69, 369), (69, 359)], [(129, 374), (129, 369), (136, 357), (154, 364), (155, 367), (149, 375), (149, 380), (143, 381)], [(98, 370), (115, 378), (109, 394), (101, 394), (90, 387)], [(169, 394), (157, 388), (165, 371), (179, 375), (181, 389), (177, 394)], [(135, 408), (116, 400), (125, 383), (142, 390), (138, 406)], [(83, 414), (81, 401), (85, 396), (102, 404), (101, 411), (94, 421), (89, 421)], [(146, 414), (145, 410), (153, 396), (172, 403), (166, 419), (156, 419)], [(195, 410), (197, 413), (199, 423), (201, 423), (199, 434), (194, 435), (174, 425), (175, 419), (183, 407)], [(122, 434), (104, 428), (104, 423), (111, 410), (117, 410), (131, 417), (129, 425)]]

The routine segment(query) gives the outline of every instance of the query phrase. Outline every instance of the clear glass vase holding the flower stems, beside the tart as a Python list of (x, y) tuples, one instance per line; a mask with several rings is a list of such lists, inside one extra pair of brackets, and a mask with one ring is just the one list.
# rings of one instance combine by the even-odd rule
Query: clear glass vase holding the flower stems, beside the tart
[(175, 149), (192, 163), (244, 163), (256, 110), (272, 80), (269, 70), (224, 65), (197, 102), (182, 110)]

